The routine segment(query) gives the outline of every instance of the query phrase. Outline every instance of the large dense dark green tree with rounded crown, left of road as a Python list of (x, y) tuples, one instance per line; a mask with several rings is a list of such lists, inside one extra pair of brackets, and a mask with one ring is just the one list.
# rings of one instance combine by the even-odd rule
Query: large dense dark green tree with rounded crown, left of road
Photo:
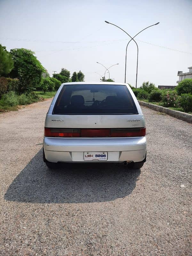
[(45, 71), (34, 52), (24, 48), (10, 51), (14, 61), (14, 68), (9, 77), (18, 78), (19, 92), (31, 92), (41, 82), (42, 73)]

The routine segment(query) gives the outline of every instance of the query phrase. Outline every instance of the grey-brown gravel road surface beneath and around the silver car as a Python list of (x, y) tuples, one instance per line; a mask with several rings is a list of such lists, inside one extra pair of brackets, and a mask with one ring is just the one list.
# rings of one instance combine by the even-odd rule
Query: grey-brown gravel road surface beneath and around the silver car
[(42, 160), (51, 100), (0, 115), (0, 255), (192, 255), (192, 124), (142, 108), (141, 170)]

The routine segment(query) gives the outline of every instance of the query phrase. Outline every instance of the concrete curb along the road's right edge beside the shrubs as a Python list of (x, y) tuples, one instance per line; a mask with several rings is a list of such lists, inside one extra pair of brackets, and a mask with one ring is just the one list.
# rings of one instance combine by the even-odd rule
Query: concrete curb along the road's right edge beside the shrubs
[(151, 103), (148, 103), (148, 102), (140, 101), (140, 100), (138, 100), (138, 102), (141, 106), (145, 106), (147, 108), (151, 108), (151, 109), (156, 110), (158, 112), (166, 113), (169, 116), (173, 116), (175, 118), (181, 119), (181, 120), (186, 121), (188, 123), (192, 123), (192, 115), (190, 115), (190, 114), (187, 114), (187, 113), (184, 113), (184, 112), (181, 112), (181, 111), (177, 111), (177, 110), (172, 110), (172, 109), (169, 109), (169, 108), (164, 108), (164, 107), (154, 105), (154, 104), (151, 104)]

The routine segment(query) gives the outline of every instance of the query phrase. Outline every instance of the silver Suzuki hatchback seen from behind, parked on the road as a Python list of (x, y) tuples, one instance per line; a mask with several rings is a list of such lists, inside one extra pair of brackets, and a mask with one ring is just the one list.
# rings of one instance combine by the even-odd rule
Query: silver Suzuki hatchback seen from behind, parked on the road
[(139, 169), (146, 161), (146, 128), (128, 84), (61, 84), (47, 112), (43, 159), (56, 163), (124, 163)]

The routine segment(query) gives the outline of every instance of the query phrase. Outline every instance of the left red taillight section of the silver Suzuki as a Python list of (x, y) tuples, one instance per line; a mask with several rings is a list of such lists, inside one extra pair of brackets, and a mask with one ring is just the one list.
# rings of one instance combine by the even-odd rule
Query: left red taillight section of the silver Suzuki
[(76, 138), (80, 137), (80, 129), (45, 128), (44, 136)]

